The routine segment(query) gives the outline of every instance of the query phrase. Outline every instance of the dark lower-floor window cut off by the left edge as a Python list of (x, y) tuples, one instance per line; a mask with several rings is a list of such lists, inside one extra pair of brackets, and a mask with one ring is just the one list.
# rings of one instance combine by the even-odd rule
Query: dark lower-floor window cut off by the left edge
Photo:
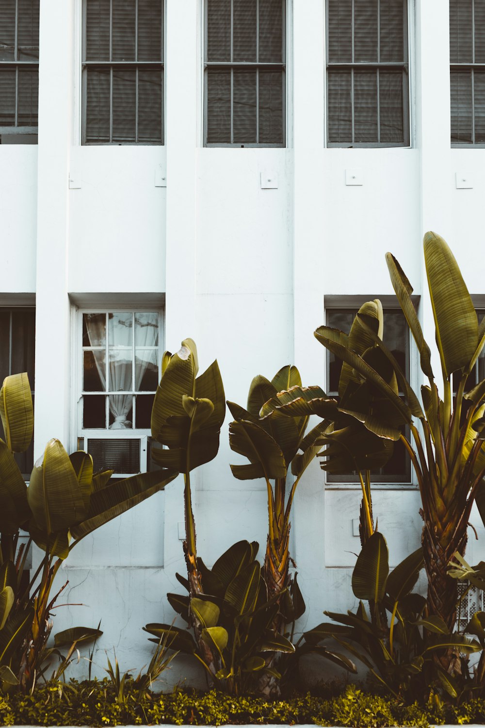
[[(0, 386), (6, 376), (26, 371), (28, 381), (33, 387), (35, 341), (36, 309), (0, 308)], [(32, 389), (32, 400), (33, 398)], [(1, 420), (0, 438), (5, 440)], [(16, 453), (15, 460), (24, 478), (28, 480), (33, 468), (33, 443), (25, 453)]]

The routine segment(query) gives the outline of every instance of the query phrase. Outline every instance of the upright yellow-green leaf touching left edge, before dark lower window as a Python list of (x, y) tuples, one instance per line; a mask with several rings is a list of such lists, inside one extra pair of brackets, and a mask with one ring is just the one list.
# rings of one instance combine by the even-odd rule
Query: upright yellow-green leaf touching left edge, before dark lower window
[(25, 452), (33, 435), (31, 385), (25, 372), (5, 377), (0, 389), (0, 416), (9, 449)]

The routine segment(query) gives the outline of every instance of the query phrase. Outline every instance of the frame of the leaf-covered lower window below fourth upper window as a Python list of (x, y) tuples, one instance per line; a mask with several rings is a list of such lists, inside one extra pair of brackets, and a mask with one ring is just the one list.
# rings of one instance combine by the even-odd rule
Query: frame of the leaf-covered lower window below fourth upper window
[[(332, 309), (340, 309), (340, 310), (348, 310), (348, 309), (359, 309), (362, 304), (366, 303), (366, 301), (373, 301), (374, 298), (379, 298), (382, 309), (385, 313), (386, 310), (398, 310), (401, 311), (401, 306), (399, 305), (397, 296), (393, 295), (384, 295), (384, 296), (361, 296), (361, 295), (350, 295), (350, 296), (324, 296), (324, 308), (325, 308), (325, 323), (327, 322), (327, 312)], [(420, 296), (411, 296), (412, 302), (415, 307), (419, 306), (420, 303)], [(403, 314), (404, 315), (404, 314)], [(385, 323), (384, 323), (385, 325)], [(409, 327), (408, 327), (409, 329)], [(414, 339), (412, 338), (412, 333), (409, 330), (408, 331), (408, 340), (406, 344), (409, 347), (409, 382), (412, 387), (414, 387), (414, 383), (417, 382), (417, 376), (418, 376), (418, 368), (419, 368), (419, 362), (418, 362), (418, 354), (417, 349), (414, 345)], [(325, 376), (324, 376), (324, 391), (328, 394), (328, 388), (329, 388), (329, 366), (330, 366), (330, 359), (329, 359), (329, 352), (328, 349), (325, 350)], [(332, 397), (332, 395), (329, 394), (329, 397)], [(409, 477), (406, 480), (399, 479), (398, 475), (396, 475), (394, 478), (391, 476), (385, 477), (385, 476), (372, 476), (371, 482), (372, 482), (372, 488), (374, 490), (416, 490), (417, 488), (417, 478), (416, 474), (414, 472), (414, 469), (411, 467), (411, 461), (409, 459), (409, 456), (406, 456), (406, 470), (409, 473)], [(407, 475), (407, 473), (406, 473)], [(329, 472), (324, 471), (324, 483), (325, 483), (325, 489), (326, 490), (360, 490), (361, 484), (358, 480), (350, 480), (347, 474), (345, 475), (331, 475)]]

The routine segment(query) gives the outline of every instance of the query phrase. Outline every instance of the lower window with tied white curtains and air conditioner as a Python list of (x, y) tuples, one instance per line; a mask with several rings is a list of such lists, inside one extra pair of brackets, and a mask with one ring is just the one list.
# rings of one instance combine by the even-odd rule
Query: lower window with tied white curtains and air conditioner
[(159, 312), (80, 313), (78, 446), (92, 455), (95, 470), (147, 470), (159, 331)]

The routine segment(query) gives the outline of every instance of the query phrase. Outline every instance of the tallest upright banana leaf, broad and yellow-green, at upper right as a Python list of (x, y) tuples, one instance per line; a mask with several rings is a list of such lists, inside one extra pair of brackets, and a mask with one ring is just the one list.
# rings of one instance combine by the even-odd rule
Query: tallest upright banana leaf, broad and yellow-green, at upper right
[(457, 261), (442, 237), (424, 237), (426, 274), (441, 366), (449, 376), (467, 369), (478, 347), (478, 320)]

